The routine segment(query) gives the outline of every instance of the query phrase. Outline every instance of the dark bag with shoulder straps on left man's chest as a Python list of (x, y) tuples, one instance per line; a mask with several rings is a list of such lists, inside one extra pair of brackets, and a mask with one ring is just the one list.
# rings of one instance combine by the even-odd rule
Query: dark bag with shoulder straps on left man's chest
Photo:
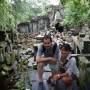
[(56, 48), (57, 48), (57, 43), (55, 43), (55, 44), (53, 45), (52, 50), (46, 50), (45, 47), (42, 45), (42, 53), (44, 53), (44, 55), (45, 55), (46, 57), (53, 57), (54, 54), (55, 54)]

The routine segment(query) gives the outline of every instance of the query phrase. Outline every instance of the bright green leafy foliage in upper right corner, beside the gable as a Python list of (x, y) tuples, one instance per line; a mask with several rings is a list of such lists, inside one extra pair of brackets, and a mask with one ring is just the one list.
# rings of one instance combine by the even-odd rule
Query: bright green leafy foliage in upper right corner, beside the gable
[(61, 0), (64, 5), (64, 24), (81, 26), (90, 22), (90, 1), (88, 0)]

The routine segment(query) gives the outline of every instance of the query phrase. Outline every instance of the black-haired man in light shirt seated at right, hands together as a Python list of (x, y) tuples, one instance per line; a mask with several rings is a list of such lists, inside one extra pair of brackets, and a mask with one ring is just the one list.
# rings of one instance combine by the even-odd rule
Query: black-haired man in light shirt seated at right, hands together
[(79, 70), (76, 65), (76, 60), (71, 56), (71, 47), (69, 44), (61, 46), (61, 58), (59, 61), (59, 73), (53, 75), (56, 80), (56, 90), (78, 90), (77, 79)]

